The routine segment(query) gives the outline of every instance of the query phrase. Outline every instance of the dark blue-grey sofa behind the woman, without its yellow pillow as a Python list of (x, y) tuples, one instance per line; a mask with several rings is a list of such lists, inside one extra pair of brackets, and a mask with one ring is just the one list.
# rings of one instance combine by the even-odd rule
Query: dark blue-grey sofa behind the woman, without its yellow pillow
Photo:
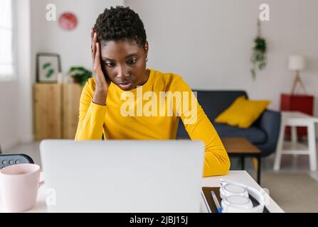
[[(197, 92), (199, 104), (212, 122), (220, 137), (243, 137), (250, 140), (261, 151), (262, 156), (275, 152), (280, 133), (280, 112), (266, 109), (250, 128), (238, 128), (224, 123), (215, 123), (214, 118), (228, 108), (238, 96), (248, 94), (244, 91), (202, 91)], [(189, 138), (182, 121), (179, 123), (177, 138)]]

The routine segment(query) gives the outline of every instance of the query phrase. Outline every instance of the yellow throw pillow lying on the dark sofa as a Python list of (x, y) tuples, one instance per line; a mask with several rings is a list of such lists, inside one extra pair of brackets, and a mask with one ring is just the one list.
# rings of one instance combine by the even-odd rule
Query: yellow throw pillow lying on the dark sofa
[(251, 101), (240, 96), (214, 120), (216, 123), (227, 123), (230, 126), (249, 128), (270, 104), (268, 100)]

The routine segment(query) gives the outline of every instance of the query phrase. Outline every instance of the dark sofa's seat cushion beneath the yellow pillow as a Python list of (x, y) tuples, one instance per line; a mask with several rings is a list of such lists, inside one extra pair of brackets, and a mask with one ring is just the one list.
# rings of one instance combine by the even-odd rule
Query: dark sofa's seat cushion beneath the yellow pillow
[(266, 143), (266, 133), (261, 128), (238, 128), (225, 123), (213, 123), (220, 137), (243, 137), (251, 143)]

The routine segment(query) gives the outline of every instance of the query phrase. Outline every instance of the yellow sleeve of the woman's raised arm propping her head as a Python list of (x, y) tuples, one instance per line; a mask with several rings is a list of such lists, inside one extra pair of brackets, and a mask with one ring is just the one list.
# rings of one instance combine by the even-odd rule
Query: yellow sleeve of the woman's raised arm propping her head
[(95, 81), (90, 78), (80, 95), (78, 128), (75, 135), (75, 140), (77, 141), (102, 139), (106, 106), (92, 102), (94, 91)]

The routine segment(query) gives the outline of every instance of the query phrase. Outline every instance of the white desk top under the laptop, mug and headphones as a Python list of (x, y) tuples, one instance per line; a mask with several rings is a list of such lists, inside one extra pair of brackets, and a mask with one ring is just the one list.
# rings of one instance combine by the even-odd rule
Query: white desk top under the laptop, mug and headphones
[[(42, 176), (41, 176), (42, 178)], [(258, 185), (255, 180), (250, 177), (248, 172), (245, 170), (238, 170), (238, 171), (230, 171), (228, 175), (225, 176), (217, 176), (217, 177), (203, 177), (202, 180), (202, 187), (220, 187), (220, 179), (227, 179), (230, 181), (240, 182), (243, 184), (246, 184), (250, 187), (254, 187), (255, 189), (261, 189), (260, 185)], [(278, 206), (272, 198), (270, 198), (269, 205), (266, 206), (268, 211), (271, 213), (282, 213), (284, 212), (280, 206)], [(0, 201), (0, 212), (4, 212), (4, 209), (2, 208), (2, 202)], [(45, 185), (41, 187), (38, 191), (38, 199), (36, 202), (36, 206), (33, 207), (33, 209), (26, 211), (27, 213), (33, 212), (46, 212), (46, 188)], [(201, 212), (206, 212), (205, 206), (201, 204)]]

